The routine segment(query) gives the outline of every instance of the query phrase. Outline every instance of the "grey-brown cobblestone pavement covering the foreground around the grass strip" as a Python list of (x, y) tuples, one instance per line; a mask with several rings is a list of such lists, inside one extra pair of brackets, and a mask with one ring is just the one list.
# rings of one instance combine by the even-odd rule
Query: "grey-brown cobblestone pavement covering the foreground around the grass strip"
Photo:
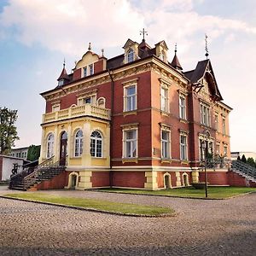
[[(7, 192), (0, 186), (0, 195)], [(255, 193), (222, 201), (90, 191), (44, 193), (166, 206), (178, 214), (135, 218), (0, 198), (0, 255), (251, 256), (256, 252)]]

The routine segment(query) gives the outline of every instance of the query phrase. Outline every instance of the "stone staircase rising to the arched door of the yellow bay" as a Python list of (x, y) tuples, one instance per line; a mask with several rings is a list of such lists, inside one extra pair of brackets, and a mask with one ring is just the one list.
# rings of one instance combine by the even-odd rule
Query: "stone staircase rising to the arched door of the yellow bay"
[(61, 166), (60, 162), (53, 162), (53, 157), (45, 160), (40, 165), (28, 167), (10, 177), (9, 189), (24, 190), (32, 188), (35, 184), (50, 180), (66, 170), (66, 166)]

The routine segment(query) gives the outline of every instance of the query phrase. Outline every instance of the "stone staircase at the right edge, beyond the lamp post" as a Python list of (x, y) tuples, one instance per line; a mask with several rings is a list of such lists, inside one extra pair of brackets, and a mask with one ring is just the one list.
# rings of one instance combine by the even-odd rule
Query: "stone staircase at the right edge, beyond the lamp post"
[(241, 177), (244, 177), (248, 182), (256, 184), (256, 168), (247, 165), (241, 160), (232, 160), (230, 171), (236, 172)]

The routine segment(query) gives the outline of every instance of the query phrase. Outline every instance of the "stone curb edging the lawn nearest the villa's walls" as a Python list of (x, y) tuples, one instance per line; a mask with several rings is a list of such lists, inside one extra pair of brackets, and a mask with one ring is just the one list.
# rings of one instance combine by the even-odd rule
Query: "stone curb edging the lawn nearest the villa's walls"
[(153, 195), (153, 194), (137, 194), (137, 193), (125, 193), (125, 192), (110, 192), (110, 191), (102, 191), (102, 190), (99, 190), (99, 189), (95, 189), (95, 190), (91, 190), (91, 189), (85, 189), (85, 191), (90, 191), (90, 192), (102, 192), (102, 193), (109, 193), (109, 194), (123, 194), (123, 195), (147, 195), (147, 196), (160, 196), (160, 197), (168, 197), (168, 198), (183, 198), (183, 199), (199, 199), (199, 200), (229, 200), (229, 199), (232, 199), (232, 198), (236, 198), (238, 196), (241, 196), (241, 195), (247, 195), (247, 194), (252, 194), (252, 193), (256, 193), (256, 191), (250, 191), (250, 192), (246, 192), (246, 193), (243, 193), (241, 195), (233, 195), (233, 196), (230, 196), (230, 197), (225, 197), (225, 198), (209, 198), (209, 197), (189, 197), (189, 196), (178, 196), (178, 195)]

